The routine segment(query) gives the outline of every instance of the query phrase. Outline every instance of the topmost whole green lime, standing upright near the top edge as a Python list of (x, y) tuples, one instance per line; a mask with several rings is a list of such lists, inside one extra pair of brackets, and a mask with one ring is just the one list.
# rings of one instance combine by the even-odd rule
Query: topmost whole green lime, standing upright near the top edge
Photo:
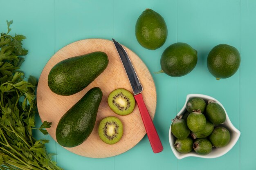
[(146, 9), (136, 22), (135, 35), (139, 44), (144, 48), (158, 49), (167, 38), (167, 26), (164, 18), (152, 9)]

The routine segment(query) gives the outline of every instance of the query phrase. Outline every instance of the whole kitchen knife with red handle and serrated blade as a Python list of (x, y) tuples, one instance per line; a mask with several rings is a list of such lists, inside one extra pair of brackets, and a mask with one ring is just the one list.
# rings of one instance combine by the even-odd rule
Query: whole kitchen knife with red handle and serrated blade
[(157, 134), (157, 131), (155, 129), (155, 126), (153, 124), (152, 119), (150, 118), (150, 115), (148, 113), (148, 109), (146, 108), (146, 105), (143, 101), (143, 97), (141, 94), (141, 91), (143, 90), (140, 82), (139, 77), (137, 76), (137, 73), (132, 65), (132, 62), (130, 61), (129, 55), (127, 54), (124, 47), (119, 44), (116, 40), (112, 39), (115, 47), (117, 49), (117, 53), (119, 54), (119, 57), (124, 65), (124, 69), (126, 71), (126, 74), (128, 76), (128, 79), (130, 81), (130, 84), (132, 86), (132, 91), (134, 93), (134, 98), (138, 104), (139, 112), (141, 114), (142, 121), (144, 123), (146, 133), (148, 135), (148, 140), (150, 142), (150, 145), (153, 149), (154, 153), (161, 152), (163, 150), (162, 143), (159, 139), (159, 136)]

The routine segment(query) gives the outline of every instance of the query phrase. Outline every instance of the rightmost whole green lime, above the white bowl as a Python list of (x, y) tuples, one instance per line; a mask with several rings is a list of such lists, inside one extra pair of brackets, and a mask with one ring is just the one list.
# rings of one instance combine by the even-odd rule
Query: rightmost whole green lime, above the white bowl
[(219, 44), (211, 49), (207, 67), (217, 80), (231, 77), (240, 65), (240, 53), (234, 46)]

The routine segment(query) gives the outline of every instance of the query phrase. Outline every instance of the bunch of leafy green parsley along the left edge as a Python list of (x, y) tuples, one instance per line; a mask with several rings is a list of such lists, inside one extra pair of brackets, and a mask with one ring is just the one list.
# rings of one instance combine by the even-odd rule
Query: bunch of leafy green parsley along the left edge
[[(35, 128), (37, 80), (26, 81), (19, 71), (27, 50), (22, 49), (24, 35), (0, 34), (0, 169), (1, 170), (62, 170), (45, 149), (46, 139), (32, 136)], [(38, 128), (44, 135), (52, 123), (43, 122)]]

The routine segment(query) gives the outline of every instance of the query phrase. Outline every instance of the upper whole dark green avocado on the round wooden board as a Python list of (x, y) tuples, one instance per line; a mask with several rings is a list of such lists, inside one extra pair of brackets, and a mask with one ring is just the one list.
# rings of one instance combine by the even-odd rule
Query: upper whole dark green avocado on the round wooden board
[(101, 51), (68, 58), (51, 69), (48, 86), (58, 95), (73, 95), (87, 87), (107, 66), (108, 55)]

